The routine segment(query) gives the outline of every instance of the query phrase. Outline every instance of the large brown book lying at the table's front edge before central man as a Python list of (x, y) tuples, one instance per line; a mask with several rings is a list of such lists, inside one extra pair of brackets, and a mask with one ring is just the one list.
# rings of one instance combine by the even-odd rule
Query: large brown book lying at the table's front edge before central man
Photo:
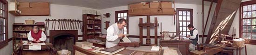
[(123, 46), (114, 46), (114, 47), (111, 47), (111, 48), (108, 48), (108, 49), (102, 49), (101, 53), (107, 54), (107, 55), (113, 55), (117, 52), (120, 52), (123, 49), (124, 49)]

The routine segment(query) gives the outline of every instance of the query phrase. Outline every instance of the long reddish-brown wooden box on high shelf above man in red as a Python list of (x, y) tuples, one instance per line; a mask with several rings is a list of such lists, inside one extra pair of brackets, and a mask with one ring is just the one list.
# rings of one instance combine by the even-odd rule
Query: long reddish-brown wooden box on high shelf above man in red
[(49, 7), (19, 8), (20, 16), (47, 16), (50, 13)]

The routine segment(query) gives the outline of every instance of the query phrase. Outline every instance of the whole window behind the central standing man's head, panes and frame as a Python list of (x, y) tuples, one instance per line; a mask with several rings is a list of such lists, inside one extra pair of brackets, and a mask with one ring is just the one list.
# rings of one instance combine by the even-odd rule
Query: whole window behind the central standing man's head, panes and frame
[(129, 22), (128, 22), (128, 10), (124, 10), (124, 11), (115, 11), (115, 22), (117, 22), (119, 19), (124, 18), (127, 20), (126, 26), (123, 28), (123, 33), (124, 34), (128, 34), (128, 26), (129, 26)]

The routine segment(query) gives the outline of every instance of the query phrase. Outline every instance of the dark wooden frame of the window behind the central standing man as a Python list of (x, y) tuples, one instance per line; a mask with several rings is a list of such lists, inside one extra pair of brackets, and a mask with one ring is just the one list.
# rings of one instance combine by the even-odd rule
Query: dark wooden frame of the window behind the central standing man
[[(129, 34), (129, 16), (128, 16), (128, 10), (123, 10), (123, 11), (115, 11), (115, 22), (118, 21), (118, 13), (127, 13), (127, 17), (126, 17), (126, 20), (127, 20), (127, 23), (126, 23), (126, 34)], [(125, 34), (125, 33), (124, 33)]]

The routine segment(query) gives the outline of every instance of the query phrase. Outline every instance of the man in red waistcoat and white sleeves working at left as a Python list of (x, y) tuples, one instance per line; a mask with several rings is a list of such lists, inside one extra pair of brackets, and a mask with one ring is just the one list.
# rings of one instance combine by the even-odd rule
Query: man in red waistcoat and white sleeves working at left
[(34, 26), (27, 36), (29, 41), (36, 43), (44, 42), (46, 40), (46, 35), (37, 26)]

